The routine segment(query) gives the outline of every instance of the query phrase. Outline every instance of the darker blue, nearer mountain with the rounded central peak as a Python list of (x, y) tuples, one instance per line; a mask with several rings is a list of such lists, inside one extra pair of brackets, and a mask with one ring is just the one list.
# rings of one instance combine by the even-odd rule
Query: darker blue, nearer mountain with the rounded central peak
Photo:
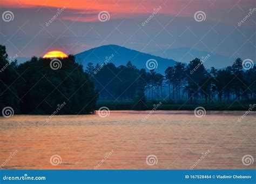
[(157, 61), (158, 65), (156, 72), (159, 73), (164, 73), (168, 66), (173, 66), (176, 64), (176, 61), (172, 59), (153, 56), (151, 54), (127, 49), (126, 47), (119, 45), (103, 45), (75, 54), (75, 56), (76, 61), (84, 65), (84, 67), (89, 62), (93, 63), (94, 65), (97, 63), (101, 65), (105, 62), (106, 58), (112, 56), (111, 59), (109, 59), (109, 63), (113, 63), (116, 66), (126, 65), (127, 62), (131, 61), (131, 63), (138, 69), (144, 68), (146, 70), (147, 60), (154, 59)]

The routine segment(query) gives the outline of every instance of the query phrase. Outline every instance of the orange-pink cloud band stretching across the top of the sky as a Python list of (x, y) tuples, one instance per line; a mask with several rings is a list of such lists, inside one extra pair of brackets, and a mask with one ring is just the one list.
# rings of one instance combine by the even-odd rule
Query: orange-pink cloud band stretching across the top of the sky
[[(239, 3), (239, 7), (244, 10), (252, 8), (254, 0), (245, 0), (246, 3)], [(100, 11), (108, 11), (111, 19), (120, 18), (136, 18), (141, 15), (145, 17), (152, 15), (154, 10), (161, 6), (159, 14), (169, 15), (173, 17), (190, 17), (193, 18), (196, 11), (204, 11), (207, 13), (208, 21), (216, 21), (221, 19), (223, 22), (230, 22), (230, 17), (221, 17), (219, 12), (234, 9), (237, 0), (225, 2), (223, 0), (204, 1), (204, 0), (2, 0), (3, 7), (10, 8), (62, 8), (66, 7), (66, 11), (75, 12), (70, 15), (63, 15), (61, 18), (76, 22), (93, 22), (98, 21), (97, 15)], [(237, 8), (237, 7), (235, 7)], [(91, 16), (94, 15), (94, 16)], [(217, 17), (217, 18), (216, 18)], [(223, 19), (226, 20), (224, 21)], [(171, 21), (171, 19), (170, 19)]]

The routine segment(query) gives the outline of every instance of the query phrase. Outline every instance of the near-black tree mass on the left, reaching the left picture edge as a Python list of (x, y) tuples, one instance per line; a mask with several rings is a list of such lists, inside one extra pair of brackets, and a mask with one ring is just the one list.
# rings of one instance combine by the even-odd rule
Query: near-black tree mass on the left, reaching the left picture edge
[(50, 67), (50, 58), (32, 57), (18, 65), (17, 60), (9, 62), (5, 46), (0, 45), (0, 110), (11, 107), (15, 114), (93, 113), (98, 92), (83, 66), (74, 56), (58, 60), (58, 70)]

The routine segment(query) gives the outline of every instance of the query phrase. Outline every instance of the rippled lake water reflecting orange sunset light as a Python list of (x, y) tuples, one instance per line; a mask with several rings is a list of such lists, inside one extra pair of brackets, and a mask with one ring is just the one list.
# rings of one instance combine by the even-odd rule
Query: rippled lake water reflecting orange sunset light
[(155, 111), (143, 122), (149, 112), (56, 115), (49, 122), (47, 115), (0, 117), (0, 164), (5, 169), (255, 169), (255, 162), (243, 165), (242, 156), (255, 160), (256, 112), (239, 122), (243, 111), (207, 111), (202, 118), (192, 111)]

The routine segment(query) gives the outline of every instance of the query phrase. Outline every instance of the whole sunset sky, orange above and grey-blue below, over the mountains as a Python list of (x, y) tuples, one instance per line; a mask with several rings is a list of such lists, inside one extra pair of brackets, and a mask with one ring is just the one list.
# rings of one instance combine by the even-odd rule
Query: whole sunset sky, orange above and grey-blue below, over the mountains
[[(255, 60), (255, 1), (2, 0), (0, 5), (0, 44), (9, 56), (76, 54), (117, 44), (145, 53), (188, 47)], [(6, 11), (11, 19), (4, 19)]]

